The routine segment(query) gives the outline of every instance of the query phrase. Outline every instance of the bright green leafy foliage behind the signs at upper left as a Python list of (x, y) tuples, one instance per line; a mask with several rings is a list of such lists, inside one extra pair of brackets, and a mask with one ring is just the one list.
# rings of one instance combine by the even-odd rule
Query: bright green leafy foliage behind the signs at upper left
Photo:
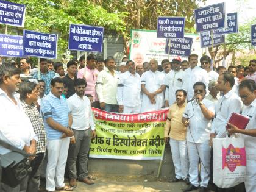
[[(58, 53), (68, 48), (70, 24), (102, 26), (106, 30), (125, 34), (125, 12), (108, 13), (103, 7), (84, 0), (12, 0), (26, 5), (24, 29), (59, 35)], [(4, 32), (5, 26), (0, 26)], [(22, 35), (20, 27), (8, 27), (9, 34)]]

